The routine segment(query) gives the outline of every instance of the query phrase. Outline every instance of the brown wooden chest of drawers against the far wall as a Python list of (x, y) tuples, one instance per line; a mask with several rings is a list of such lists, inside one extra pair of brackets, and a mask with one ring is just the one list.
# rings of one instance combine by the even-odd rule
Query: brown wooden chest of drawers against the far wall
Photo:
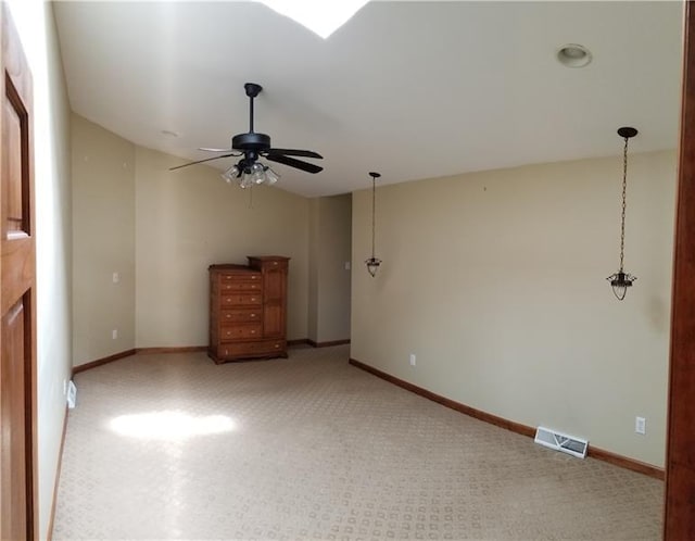
[(289, 257), (249, 256), (210, 270), (210, 345), (215, 363), (287, 357)]

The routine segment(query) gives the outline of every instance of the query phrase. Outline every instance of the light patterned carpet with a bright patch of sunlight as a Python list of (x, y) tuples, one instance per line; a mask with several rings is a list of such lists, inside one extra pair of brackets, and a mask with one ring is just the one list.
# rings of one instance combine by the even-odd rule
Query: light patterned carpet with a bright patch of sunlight
[(659, 539), (662, 482), (348, 364), (137, 355), (76, 376), (53, 539)]

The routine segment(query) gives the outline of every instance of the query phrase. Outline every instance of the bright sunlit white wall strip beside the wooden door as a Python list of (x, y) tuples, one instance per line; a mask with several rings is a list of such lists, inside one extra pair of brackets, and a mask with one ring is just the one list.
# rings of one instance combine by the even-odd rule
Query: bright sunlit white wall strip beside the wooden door
[(38, 519), (46, 539), (65, 415), (63, 381), (72, 362), (70, 104), (51, 4), (9, 4), (34, 78)]

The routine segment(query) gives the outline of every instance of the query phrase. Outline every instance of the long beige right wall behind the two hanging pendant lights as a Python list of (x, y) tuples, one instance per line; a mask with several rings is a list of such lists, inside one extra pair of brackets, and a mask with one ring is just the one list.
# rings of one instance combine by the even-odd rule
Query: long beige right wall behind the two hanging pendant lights
[[(352, 356), (664, 466), (675, 164), (672, 151), (630, 158), (626, 269), (639, 279), (623, 302), (605, 279), (618, 156), (378, 189), (383, 264), (376, 279), (353, 267)], [(369, 192), (354, 193), (353, 261), (369, 251)]]

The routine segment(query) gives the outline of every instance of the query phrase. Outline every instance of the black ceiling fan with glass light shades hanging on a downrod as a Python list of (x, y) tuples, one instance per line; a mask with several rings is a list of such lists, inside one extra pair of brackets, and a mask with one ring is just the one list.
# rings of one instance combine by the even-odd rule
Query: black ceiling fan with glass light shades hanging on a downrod
[(213, 160), (219, 160), (222, 158), (243, 156), (236, 165), (229, 167), (229, 169), (223, 174), (223, 177), (227, 181), (231, 181), (233, 178), (241, 178), (240, 185), (242, 188), (254, 184), (275, 184), (275, 181), (277, 181), (278, 175), (267, 165), (258, 162), (261, 156), (271, 162), (289, 165), (290, 167), (302, 169), (307, 173), (318, 173), (323, 171), (324, 167), (319, 167), (318, 165), (304, 162), (302, 160), (296, 160), (295, 158), (290, 158), (300, 156), (319, 160), (323, 159), (324, 156), (317, 152), (312, 150), (274, 149), (270, 147), (270, 136), (266, 134), (257, 134), (253, 130), (253, 100), (258, 96), (258, 93), (261, 93), (263, 87), (255, 83), (247, 83), (243, 87), (250, 100), (249, 131), (233, 136), (231, 138), (230, 149), (199, 149), (206, 152), (223, 152), (220, 155), (185, 163), (184, 165), (177, 165), (176, 167), (170, 167), (169, 171), (180, 169), (181, 167), (211, 162)]

